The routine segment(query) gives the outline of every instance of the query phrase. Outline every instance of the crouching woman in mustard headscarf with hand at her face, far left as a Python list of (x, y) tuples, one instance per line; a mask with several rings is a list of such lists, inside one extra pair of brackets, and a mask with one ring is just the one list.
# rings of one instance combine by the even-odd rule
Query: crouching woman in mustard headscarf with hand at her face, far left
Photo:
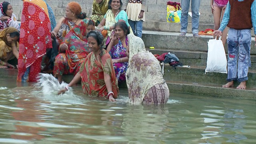
[(13, 27), (5, 28), (0, 32), (0, 68), (6, 68), (6, 66), (14, 68), (7, 61), (14, 56), (18, 59), (19, 38), (20, 33)]

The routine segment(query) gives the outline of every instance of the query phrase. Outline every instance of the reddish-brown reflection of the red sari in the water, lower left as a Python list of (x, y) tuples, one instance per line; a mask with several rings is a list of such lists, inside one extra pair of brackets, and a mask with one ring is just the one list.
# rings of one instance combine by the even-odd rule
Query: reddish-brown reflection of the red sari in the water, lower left
[[(26, 91), (29, 91), (29, 89)], [(19, 98), (15, 99), (14, 102), (17, 103), (16, 107), (22, 108), (22, 110), (12, 111), (11, 113), (11, 116), (16, 120), (14, 124), (16, 130), (11, 137), (22, 140), (40, 140), (44, 138), (39, 132), (47, 129), (36, 125), (36, 122), (44, 121), (40, 119), (40, 116), (45, 113), (44, 110), (38, 108), (38, 100), (33, 97), (29, 98), (26, 94), (19, 94), (17, 96)]]

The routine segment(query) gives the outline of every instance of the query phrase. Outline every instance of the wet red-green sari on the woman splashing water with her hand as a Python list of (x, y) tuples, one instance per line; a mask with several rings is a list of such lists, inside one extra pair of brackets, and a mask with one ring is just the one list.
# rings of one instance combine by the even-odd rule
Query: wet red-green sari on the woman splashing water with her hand
[(84, 94), (108, 98), (104, 72), (110, 75), (112, 91), (114, 92), (114, 96), (118, 96), (118, 82), (115, 76), (112, 59), (104, 49), (102, 50), (101, 61), (98, 61), (95, 54), (91, 52), (80, 68)]

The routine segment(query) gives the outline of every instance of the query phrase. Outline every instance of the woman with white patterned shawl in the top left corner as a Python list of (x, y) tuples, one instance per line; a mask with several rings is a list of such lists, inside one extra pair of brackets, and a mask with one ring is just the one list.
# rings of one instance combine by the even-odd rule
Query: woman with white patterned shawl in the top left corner
[(0, 3), (0, 31), (4, 28), (14, 27), (20, 31), (20, 24), (13, 14), (12, 5), (9, 2)]

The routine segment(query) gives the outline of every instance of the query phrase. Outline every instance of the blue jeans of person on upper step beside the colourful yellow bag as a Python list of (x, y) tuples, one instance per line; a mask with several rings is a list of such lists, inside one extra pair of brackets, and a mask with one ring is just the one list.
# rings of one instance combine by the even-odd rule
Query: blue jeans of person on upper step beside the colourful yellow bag
[[(181, 20), (180, 20), (180, 32), (187, 33), (188, 27), (188, 10), (189, 10), (190, 0), (181, 0)], [(191, 10), (192, 10), (192, 33), (198, 34), (199, 26), (199, 6), (200, 0), (191, 0)]]

